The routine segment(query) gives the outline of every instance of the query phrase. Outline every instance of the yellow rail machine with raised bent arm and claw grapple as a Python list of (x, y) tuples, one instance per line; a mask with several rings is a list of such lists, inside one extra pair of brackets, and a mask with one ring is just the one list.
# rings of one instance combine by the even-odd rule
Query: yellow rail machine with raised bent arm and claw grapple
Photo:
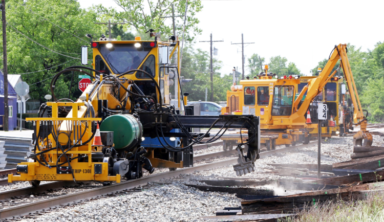
[[(340, 66), (331, 73), (338, 60), (340, 60)], [(364, 142), (364, 146), (371, 146), (372, 135), (366, 129), (367, 119), (363, 114), (356, 91), (347, 57), (347, 47), (342, 44), (335, 46), (324, 70), (319, 73), (318, 77), (308, 79), (302, 90), (297, 90), (300, 76), (282, 76), (279, 78), (273, 73), (268, 73), (268, 66), (266, 65), (265, 72), (261, 72), (253, 80), (241, 80), (240, 85), (231, 86), (231, 91), (227, 91), (228, 106), (222, 109), (222, 114), (230, 114), (240, 110), (242, 114), (260, 116), (262, 134), (277, 134), (276, 145), (295, 145), (297, 141), (301, 141), (300, 137), (304, 138), (306, 144), (309, 142), (309, 131), (317, 128), (317, 124), (306, 124), (307, 110), (316, 103), (315, 98), (324, 95), (327, 98), (332, 96), (333, 99), (336, 96), (335, 101), (340, 100), (337, 97), (337, 92), (330, 91), (332, 83), (339, 81), (338, 79), (332, 80), (332, 78), (335, 78), (333, 76), (340, 68), (343, 68), (349, 97), (353, 104), (351, 106), (353, 110), (348, 107), (344, 108), (345, 113), (349, 109), (348, 116), (350, 119), (344, 118), (343, 126), (345, 126), (344, 128), (352, 128), (352, 124), (360, 125), (361, 130), (354, 136), (354, 144), (362, 145)], [(272, 79), (272, 77), (276, 79)], [(326, 87), (327, 84), (329, 84), (328, 88)], [(336, 84), (336, 90), (337, 87)], [(324, 88), (328, 91), (323, 94)], [(295, 96), (295, 92), (300, 92), (300, 94)], [(341, 100), (343, 101), (342, 104), (346, 104), (345, 95), (342, 96)], [(318, 101), (323, 101), (323, 99), (318, 99)], [(337, 112), (337, 103), (330, 103), (331, 115), (332, 112)], [(324, 128), (328, 128), (330, 134), (337, 130), (336, 127), (323, 127), (322, 130)], [(328, 131), (325, 132), (328, 133)]]

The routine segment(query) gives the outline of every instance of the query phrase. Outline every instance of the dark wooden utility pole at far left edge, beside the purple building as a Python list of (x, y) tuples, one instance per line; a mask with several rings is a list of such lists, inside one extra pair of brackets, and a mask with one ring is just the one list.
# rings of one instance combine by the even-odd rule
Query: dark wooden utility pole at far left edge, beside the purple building
[(8, 66), (7, 66), (7, 30), (5, 20), (5, 0), (2, 0), (2, 21), (3, 21), (3, 76), (4, 76), (4, 123), (3, 130), (8, 131)]

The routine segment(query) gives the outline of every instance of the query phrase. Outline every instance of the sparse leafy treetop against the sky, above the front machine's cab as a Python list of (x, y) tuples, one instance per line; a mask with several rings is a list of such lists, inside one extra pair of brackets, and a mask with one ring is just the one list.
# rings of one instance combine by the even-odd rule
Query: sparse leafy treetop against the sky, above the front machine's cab
[[(144, 35), (144, 32), (154, 29), (156, 32), (161, 32), (163, 38), (173, 35), (173, 25), (166, 22), (166, 19), (161, 18), (172, 16), (172, 4), (174, 4), (175, 15), (184, 15), (186, 0), (114, 0), (114, 2), (122, 9), (118, 12), (114, 8), (105, 8), (102, 5), (94, 7), (95, 12), (99, 13), (100, 20), (112, 18), (116, 21), (122, 21), (133, 27), (142, 37), (149, 38), (149, 35)], [(197, 27), (199, 19), (196, 18), (196, 13), (203, 8), (201, 1), (189, 1), (187, 8), (187, 22), (185, 24), (185, 39), (190, 41), (194, 36), (201, 33), (201, 29)], [(149, 9), (149, 10), (148, 10)], [(172, 21), (172, 20), (171, 20)], [(179, 37), (182, 36), (184, 16), (175, 18), (176, 31)]]

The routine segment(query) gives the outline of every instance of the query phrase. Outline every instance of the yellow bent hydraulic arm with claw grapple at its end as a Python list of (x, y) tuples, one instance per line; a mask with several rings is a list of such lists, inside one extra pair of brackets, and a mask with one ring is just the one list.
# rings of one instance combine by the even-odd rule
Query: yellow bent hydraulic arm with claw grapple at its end
[[(308, 89), (306, 87), (303, 88), (303, 91), (307, 90), (307, 96), (304, 99), (301, 107), (298, 109), (298, 102), (300, 102), (300, 100), (303, 98), (304, 93), (300, 93), (300, 95), (296, 98), (294, 102), (296, 112), (292, 114), (290, 118), (292, 118), (292, 122), (303, 121), (302, 119), (304, 119), (304, 115), (307, 112), (312, 100), (323, 91), (323, 87), (325, 86), (325, 84), (327, 84), (327, 82), (332, 78), (332, 76), (336, 74), (336, 72), (340, 69), (340, 67), (337, 68), (337, 70), (335, 70), (331, 75), (329, 75), (339, 59), (340, 66), (343, 68), (345, 80), (348, 85), (349, 94), (354, 105), (353, 121), (356, 125), (360, 125), (360, 131), (358, 131), (357, 134), (355, 134), (355, 136), (353, 137), (354, 143), (355, 145), (360, 146), (371, 146), (372, 135), (367, 131), (367, 119), (362, 113), (359, 96), (357, 94), (355, 81), (353, 79), (351, 67), (347, 56), (346, 44), (339, 44), (338, 46), (335, 46), (335, 49), (332, 52), (331, 57), (329, 58), (323, 71), (319, 74), (317, 78), (308, 81)], [(363, 140), (364, 144), (362, 144)]]

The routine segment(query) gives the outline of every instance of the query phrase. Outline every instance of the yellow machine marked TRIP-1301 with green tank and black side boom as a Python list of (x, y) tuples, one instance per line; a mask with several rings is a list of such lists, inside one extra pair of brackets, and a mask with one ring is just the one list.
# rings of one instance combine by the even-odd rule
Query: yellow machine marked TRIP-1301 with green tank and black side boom
[[(87, 34), (91, 42), (81, 47), (81, 63), (88, 64), (91, 48), (92, 68), (71, 66), (53, 77), (48, 97), (54, 102), (42, 104), (38, 118), (27, 119), (34, 125), (33, 153), (17, 165), (19, 175), (9, 174), (9, 182), (29, 181), (38, 186), (40, 181), (97, 181), (108, 185), (123, 177), (137, 179), (142, 169), (152, 173), (157, 167), (190, 167), (193, 145), (215, 142), (228, 128), (248, 129), (249, 139), (238, 145), (239, 164), (234, 170), (239, 175), (254, 170), (260, 151), (259, 117), (193, 116), (194, 106), (187, 106), (188, 93), (180, 87), (180, 41), (175, 36), (161, 41), (160, 33), (150, 36), (154, 40), (117, 41), (102, 36), (93, 41)], [(73, 72), (90, 76), (92, 83), (77, 101), (56, 98), (56, 81)], [(172, 81), (177, 86), (173, 101)], [(220, 131), (203, 142), (209, 130), (191, 132), (200, 127)], [(249, 147), (246, 154), (245, 145)]]

